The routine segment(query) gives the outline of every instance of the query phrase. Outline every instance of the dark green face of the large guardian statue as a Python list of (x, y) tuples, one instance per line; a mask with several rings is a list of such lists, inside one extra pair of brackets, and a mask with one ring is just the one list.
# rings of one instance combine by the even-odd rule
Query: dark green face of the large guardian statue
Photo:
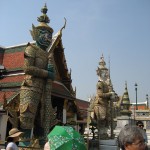
[(39, 30), (39, 37), (36, 40), (38, 46), (42, 49), (47, 49), (52, 41), (52, 33), (47, 30)]

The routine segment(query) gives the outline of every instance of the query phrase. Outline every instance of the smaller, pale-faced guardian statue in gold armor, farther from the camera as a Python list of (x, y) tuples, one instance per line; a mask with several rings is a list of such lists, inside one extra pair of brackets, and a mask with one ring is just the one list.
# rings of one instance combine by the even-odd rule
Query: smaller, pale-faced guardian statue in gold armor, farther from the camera
[(110, 77), (108, 69), (105, 67), (104, 57), (101, 57), (100, 66), (97, 69), (99, 80), (96, 85), (96, 96), (93, 102), (93, 113), (91, 119), (97, 122), (101, 139), (107, 139), (107, 130), (110, 127), (110, 100), (114, 98), (115, 93), (110, 86)]

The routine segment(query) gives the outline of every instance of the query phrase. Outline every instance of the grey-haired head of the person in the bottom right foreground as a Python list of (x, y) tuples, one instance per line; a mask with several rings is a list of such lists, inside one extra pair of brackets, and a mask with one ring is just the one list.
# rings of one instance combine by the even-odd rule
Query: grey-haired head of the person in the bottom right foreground
[(122, 150), (145, 150), (143, 130), (136, 126), (125, 126), (119, 133), (118, 145)]

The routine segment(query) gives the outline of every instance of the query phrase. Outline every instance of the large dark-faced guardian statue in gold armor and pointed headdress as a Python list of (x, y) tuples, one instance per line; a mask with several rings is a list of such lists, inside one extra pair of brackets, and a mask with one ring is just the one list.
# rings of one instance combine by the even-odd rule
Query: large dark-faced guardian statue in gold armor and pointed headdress
[[(43, 101), (47, 79), (54, 80), (55, 71), (48, 61), (47, 48), (52, 42), (53, 29), (47, 25), (46, 5), (38, 17), (39, 26), (32, 25), (31, 35), (35, 44), (28, 43), (24, 52), (25, 78), (20, 91), (20, 128), (31, 130), (36, 125), (42, 127)], [(37, 117), (36, 117), (37, 116)], [(31, 132), (28, 136), (30, 136)]]

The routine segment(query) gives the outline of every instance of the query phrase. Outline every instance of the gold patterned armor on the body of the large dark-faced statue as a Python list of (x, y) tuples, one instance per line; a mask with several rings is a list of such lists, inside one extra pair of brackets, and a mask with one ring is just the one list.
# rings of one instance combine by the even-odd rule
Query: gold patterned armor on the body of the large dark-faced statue
[(39, 47), (29, 44), (24, 57), (25, 78), (20, 91), (20, 126), (23, 129), (31, 129), (48, 77), (48, 54)]

